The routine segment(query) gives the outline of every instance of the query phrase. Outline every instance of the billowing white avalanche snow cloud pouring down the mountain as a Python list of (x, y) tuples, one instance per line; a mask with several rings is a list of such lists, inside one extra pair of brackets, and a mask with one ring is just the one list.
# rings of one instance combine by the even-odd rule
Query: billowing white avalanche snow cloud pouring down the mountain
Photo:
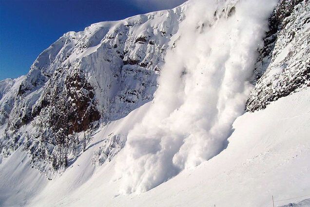
[(165, 57), (154, 102), (116, 161), (122, 193), (147, 191), (225, 148), (252, 89), (256, 51), (275, 4), (191, 2)]

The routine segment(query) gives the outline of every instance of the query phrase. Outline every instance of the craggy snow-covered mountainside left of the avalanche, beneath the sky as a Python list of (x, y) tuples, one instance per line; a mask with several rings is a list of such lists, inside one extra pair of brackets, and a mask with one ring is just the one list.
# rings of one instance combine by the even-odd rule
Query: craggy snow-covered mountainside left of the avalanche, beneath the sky
[(99, 124), (152, 100), (185, 8), (68, 32), (39, 55), (26, 76), (2, 81), (1, 157), (21, 146), (32, 165), (51, 177), (52, 168), (64, 170), (67, 157), (77, 156)]

